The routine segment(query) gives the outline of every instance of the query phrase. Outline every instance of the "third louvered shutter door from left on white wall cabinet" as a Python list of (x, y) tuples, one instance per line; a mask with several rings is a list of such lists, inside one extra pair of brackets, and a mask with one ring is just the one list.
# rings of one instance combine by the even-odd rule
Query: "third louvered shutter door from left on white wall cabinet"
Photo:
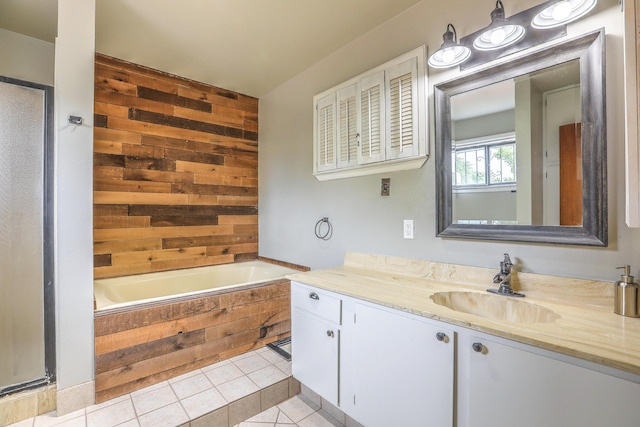
[(358, 163), (384, 160), (385, 96), (384, 72), (364, 77), (359, 82), (358, 128), (360, 130)]

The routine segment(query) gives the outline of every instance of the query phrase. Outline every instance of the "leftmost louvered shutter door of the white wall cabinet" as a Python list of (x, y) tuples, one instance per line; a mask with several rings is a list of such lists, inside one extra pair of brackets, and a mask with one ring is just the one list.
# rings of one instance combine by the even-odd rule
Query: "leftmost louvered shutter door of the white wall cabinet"
[(315, 157), (318, 172), (336, 168), (336, 96), (328, 95), (316, 104)]

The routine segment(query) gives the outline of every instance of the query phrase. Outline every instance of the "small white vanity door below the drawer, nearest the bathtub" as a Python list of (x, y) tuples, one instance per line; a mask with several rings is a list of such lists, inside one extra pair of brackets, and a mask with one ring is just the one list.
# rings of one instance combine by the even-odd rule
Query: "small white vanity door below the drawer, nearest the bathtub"
[(338, 405), (340, 331), (335, 324), (298, 307), (291, 313), (293, 376), (334, 405)]

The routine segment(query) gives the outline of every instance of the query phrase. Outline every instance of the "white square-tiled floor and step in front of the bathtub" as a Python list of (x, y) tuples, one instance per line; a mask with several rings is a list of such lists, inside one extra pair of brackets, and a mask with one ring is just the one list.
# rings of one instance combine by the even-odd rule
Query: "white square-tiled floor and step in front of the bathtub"
[(260, 409), (266, 410), (239, 426), (341, 425), (303, 396), (282, 402), (291, 395), (290, 378), (291, 362), (265, 347), (61, 417), (54, 411), (10, 427), (217, 427)]

